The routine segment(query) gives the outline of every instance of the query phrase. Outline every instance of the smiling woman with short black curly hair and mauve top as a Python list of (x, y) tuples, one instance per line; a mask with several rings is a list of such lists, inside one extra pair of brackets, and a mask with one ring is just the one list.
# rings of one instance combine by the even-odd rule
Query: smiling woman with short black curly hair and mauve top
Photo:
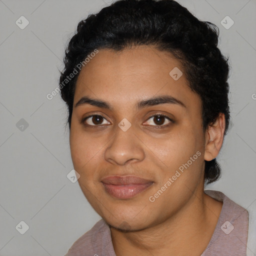
[(228, 63), (218, 29), (173, 0), (119, 0), (79, 22), (59, 87), (79, 185), (102, 217), (71, 255), (245, 255), (222, 192)]

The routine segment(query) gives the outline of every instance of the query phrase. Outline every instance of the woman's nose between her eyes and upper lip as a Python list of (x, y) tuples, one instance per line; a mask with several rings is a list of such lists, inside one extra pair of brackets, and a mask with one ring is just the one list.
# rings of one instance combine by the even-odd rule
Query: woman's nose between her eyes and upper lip
[(144, 159), (143, 143), (134, 134), (132, 125), (126, 131), (117, 126), (114, 132), (115, 135), (104, 152), (106, 161), (124, 165), (127, 162), (142, 161)]

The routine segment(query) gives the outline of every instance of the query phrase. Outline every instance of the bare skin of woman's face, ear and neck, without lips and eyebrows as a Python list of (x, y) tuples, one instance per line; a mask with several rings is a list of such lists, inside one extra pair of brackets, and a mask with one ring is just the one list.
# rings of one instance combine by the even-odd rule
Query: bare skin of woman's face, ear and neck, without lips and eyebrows
[[(78, 76), (70, 128), (70, 150), (79, 185), (95, 211), (110, 225), (116, 255), (200, 255), (207, 247), (221, 211), (219, 202), (203, 192), (204, 160), (218, 154), (224, 115), (206, 131), (201, 100), (183, 75), (169, 72), (183, 67), (170, 53), (153, 46), (121, 52), (100, 49)], [(136, 108), (137, 101), (170, 95), (180, 104), (163, 103)], [(88, 103), (88, 96), (108, 102), (105, 109)], [(162, 120), (154, 114), (171, 118)], [(91, 114), (103, 116), (98, 122)], [(131, 126), (123, 131), (118, 123)], [(87, 126), (86, 126), (87, 124)], [(94, 126), (90, 126), (90, 125)], [(98, 125), (98, 126), (97, 126)], [(165, 191), (149, 201), (175, 171), (197, 151), (201, 154)], [(100, 180), (107, 175), (137, 175), (153, 181), (129, 199), (109, 195)]]

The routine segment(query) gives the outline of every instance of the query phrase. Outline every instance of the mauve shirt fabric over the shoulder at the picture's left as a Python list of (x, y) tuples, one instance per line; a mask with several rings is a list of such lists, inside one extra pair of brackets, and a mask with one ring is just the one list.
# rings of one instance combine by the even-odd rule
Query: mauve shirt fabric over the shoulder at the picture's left
[(65, 256), (97, 255), (109, 239), (111, 240), (109, 226), (103, 219), (100, 219), (72, 244)]

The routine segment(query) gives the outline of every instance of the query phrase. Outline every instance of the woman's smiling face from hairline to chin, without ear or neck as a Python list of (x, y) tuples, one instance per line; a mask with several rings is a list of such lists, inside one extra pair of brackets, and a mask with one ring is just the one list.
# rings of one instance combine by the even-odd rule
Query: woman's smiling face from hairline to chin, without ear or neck
[(153, 46), (100, 49), (78, 76), (72, 162), (87, 200), (114, 227), (159, 224), (202, 189), (201, 100), (176, 68), (183, 72)]

